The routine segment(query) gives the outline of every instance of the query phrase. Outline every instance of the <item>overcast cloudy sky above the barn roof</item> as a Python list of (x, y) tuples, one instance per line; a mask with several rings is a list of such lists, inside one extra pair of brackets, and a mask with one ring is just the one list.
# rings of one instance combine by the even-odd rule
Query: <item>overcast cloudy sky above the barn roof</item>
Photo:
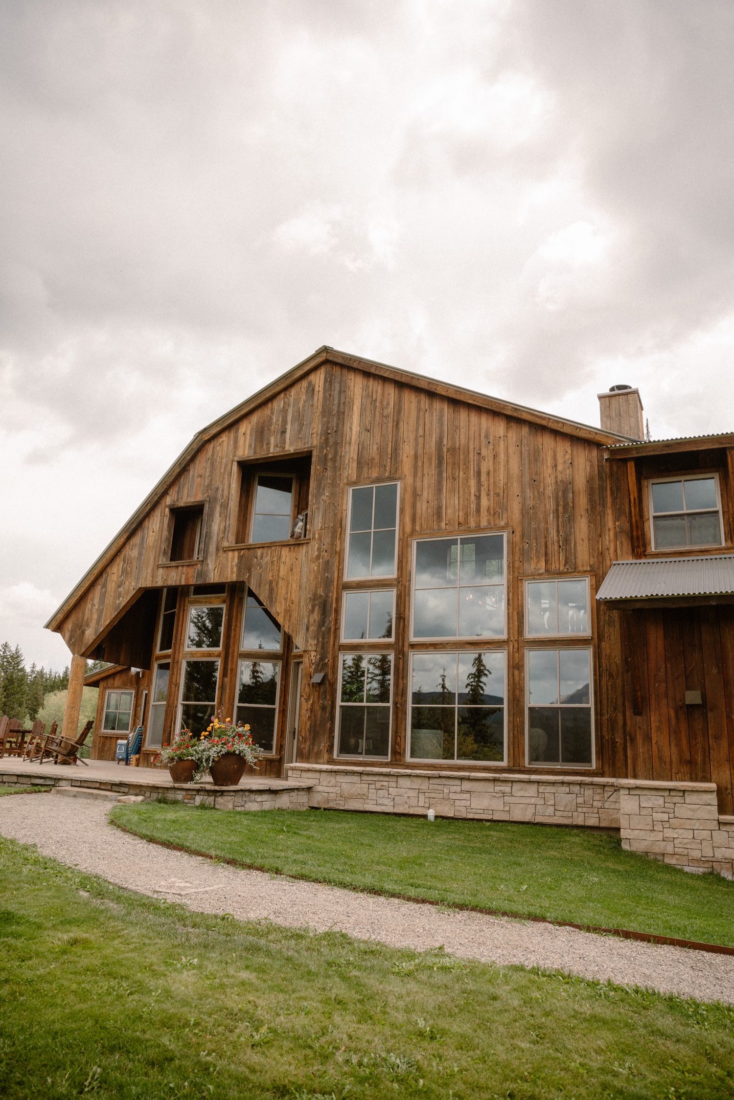
[(734, 428), (731, 0), (0, 6), (0, 641), (321, 344)]

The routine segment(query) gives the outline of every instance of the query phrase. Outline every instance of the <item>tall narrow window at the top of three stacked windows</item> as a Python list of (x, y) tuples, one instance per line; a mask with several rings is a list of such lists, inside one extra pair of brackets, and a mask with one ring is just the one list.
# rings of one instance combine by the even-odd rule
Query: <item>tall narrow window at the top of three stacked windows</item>
[(347, 576), (395, 576), (397, 482), (349, 494)]

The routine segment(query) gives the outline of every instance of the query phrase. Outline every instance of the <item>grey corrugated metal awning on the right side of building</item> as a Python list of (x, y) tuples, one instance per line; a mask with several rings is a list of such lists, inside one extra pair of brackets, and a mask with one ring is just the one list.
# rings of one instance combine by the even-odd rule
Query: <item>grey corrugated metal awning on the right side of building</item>
[(734, 554), (615, 561), (596, 593), (606, 604), (734, 601)]

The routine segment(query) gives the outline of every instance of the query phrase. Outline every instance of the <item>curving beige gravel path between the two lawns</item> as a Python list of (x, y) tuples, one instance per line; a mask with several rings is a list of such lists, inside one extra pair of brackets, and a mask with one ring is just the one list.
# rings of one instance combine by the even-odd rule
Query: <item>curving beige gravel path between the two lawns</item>
[(576, 928), (525, 924), (481, 913), (354, 893), (261, 871), (239, 870), (171, 851), (106, 821), (110, 802), (25, 794), (0, 799), (0, 834), (35, 844), (45, 856), (109, 882), (240, 921), (267, 919), (319, 932), (451, 955), (565, 970), (583, 978), (644, 986), (701, 1001), (734, 1004), (734, 957), (640, 944)]

